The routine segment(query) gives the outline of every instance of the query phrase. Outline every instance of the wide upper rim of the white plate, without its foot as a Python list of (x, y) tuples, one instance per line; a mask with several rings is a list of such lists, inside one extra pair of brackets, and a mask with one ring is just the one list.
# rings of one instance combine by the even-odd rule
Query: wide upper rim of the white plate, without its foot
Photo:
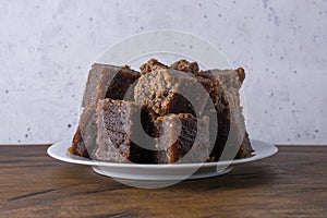
[[(153, 168), (153, 169), (182, 169), (182, 168), (198, 168), (198, 167), (218, 167), (218, 166), (232, 166), (240, 165), (251, 161), (261, 160), (267, 157), (270, 157), (278, 153), (278, 147), (274, 144), (266, 143), (258, 140), (251, 140), (251, 144), (255, 149), (254, 155), (252, 157), (234, 159), (234, 160), (226, 160), (220, 162), (202, 162), (202, 164), (172, 164), (172, 165), (160, 165), (160, 164), (130, 164), (130, 162), (107, 162), (107, 161), (97, 161), (87, 158), (83, 158), (80, 156), (74, 156), (68, 154), (66, 149), (71, 146), (70, 141), (61, 141), (50, 145), (47, 149), (47, 154), (60, 161), (76, 164), (76, 165), (85, 165), (85, 166), (99, 166), (99, 167), (111, 167), (111, 168)], [(266, 149), (263, 147), (266, 146)], [(58, 154), (57, 149), (61, 149), (61, 153)], [(63, 152), (64, 149), (64, 152)]]

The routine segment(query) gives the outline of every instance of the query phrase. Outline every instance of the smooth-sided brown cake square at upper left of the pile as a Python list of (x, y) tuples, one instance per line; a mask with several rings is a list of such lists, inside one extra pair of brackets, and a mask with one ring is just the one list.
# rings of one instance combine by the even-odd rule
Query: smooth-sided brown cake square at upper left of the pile
[(96, 107), (105, 98), (133, 100), (132, 85), (138, 77), (140, 73), (129, 66), (95, 63), (88, 73), (82, 106)]

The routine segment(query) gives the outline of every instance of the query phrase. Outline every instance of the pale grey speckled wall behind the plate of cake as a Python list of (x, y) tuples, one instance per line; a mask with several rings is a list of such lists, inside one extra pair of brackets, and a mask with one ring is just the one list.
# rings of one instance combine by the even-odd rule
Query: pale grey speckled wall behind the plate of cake
[(144, 31), (215, 44), (247, 72), (254, 138), (327, 144), (327, 1), (0, 1), (0, 144), (70, 138), (92, 62)]

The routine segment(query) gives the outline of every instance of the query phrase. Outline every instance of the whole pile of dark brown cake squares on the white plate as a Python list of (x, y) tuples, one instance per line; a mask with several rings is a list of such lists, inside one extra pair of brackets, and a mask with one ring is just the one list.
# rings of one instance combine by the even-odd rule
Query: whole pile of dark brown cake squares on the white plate
[(244, 78), (241, 68), (199, 71), (186, 60), (168, 66), (152, 59), (141, 72), (95, 63), (69, 153), (137, 164), (249, 157), (239, 99)]

